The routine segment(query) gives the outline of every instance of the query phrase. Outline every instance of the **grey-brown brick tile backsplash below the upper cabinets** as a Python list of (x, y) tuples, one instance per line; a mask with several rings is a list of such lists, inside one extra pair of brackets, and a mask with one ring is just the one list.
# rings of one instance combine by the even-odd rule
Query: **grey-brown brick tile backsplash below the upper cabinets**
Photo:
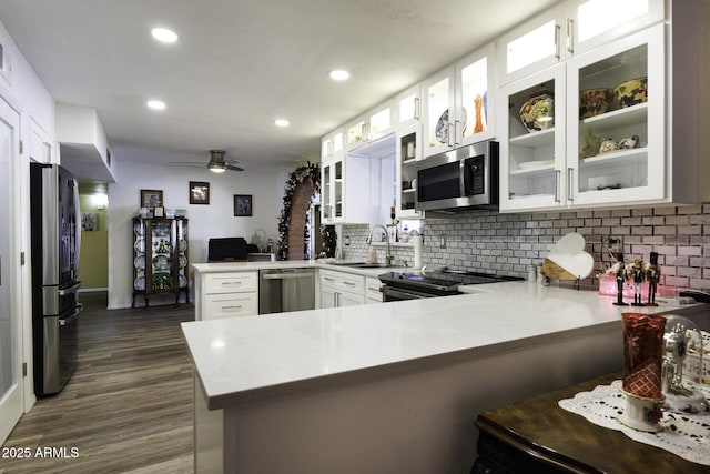
[[(349, 245), (343, 245), (344, 258), (367, 256), (368, 229), (343, 225), (341, 239), (349, 238)], [(650, 252), (658, 252), (661, 285), (710, 289), (710, 203), (518, 214), (473, 210), (427, 219), (422, 231), (425, 264), (518, 276), (527, 275), (528, 265), (541, 264), (555, 242), (569, 232), (585, 236), (596, 271), (602, 271), (611, 263), (607, 240), (619, 236), (627, 262), (637, 258), (648, 262)], [(442, 235), (445, 249), (440, 249)], [(384, 248), (374, 249), (378, 261), (384, 261)], [(414, 259), (408, 246), (393, 246), (393, 254), (408, 264)]]

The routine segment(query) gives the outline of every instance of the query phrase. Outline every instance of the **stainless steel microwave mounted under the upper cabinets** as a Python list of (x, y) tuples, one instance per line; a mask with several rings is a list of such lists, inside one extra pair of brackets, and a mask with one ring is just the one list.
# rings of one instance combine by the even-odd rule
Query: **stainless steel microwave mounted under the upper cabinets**
[(417, 210), (498, 204), (498, 142), (488, 140), (422, 160)]

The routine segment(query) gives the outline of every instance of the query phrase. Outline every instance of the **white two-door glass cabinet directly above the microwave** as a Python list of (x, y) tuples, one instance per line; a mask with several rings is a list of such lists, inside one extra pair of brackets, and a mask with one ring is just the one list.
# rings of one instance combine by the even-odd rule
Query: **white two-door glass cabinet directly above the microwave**
[(493, 138), (494, 47), (485, 47), (423, 83), (424, 155)]

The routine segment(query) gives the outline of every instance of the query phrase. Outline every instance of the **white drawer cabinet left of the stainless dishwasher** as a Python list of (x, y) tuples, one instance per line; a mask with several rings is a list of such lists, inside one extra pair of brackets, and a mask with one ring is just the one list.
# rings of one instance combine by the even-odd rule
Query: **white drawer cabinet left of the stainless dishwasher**
[(195, 320), (258, 314), (258, 272), (195, 272)]

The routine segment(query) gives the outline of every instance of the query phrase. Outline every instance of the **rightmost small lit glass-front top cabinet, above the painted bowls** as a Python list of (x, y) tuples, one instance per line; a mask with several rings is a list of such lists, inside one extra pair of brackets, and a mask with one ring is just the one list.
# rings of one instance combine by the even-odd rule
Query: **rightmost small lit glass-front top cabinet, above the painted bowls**
[(663, 20), (663, 0), (571, 0), (567, 48), (579, 53)]

